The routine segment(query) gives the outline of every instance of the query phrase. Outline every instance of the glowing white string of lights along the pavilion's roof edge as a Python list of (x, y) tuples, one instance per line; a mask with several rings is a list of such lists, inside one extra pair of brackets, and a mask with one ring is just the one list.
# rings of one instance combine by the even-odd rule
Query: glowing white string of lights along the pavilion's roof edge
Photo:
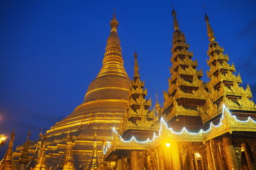
[[(251, 117), (248, 117), (248, 119), (247, 119), (247, 120), (244, 120), (244, 121), (243, 121), (243, 120), (238, 120), (238, 119), (236, 118), (236, 115), (231, 115), (230, 111), (226, 108), (225, 104), (223, 104), (222, 115), (221, 115), (221, 118), (220, 118), (220, 123), (219, 123), (218, 125), (214, 125), (214, 124), (212, 124), (212, 122), (211, 122), (210, 127), (209, 127), (209, 129), (208, 129), (207, 131), (204, 131), (203, 129), (200, 129), (199, 132), (189, 132), (189, 131), (186, 129), (186, 127), (183, 127), (182, 131), (180, 131), (180, 132), (175, 132), (175, 131), (173, 131), (172, 127), (169, 128), (168, 125), (167, 125), (167, 123), (164, 121), (164, 119), (161, 118), (161, 120), (160, 120), (159, 135), (157, 136), (156, 133), (154, 132), (153, 138), (152, 138), (151, 140), (148, 138), (146, 141), (138, 141), (134, 136), (132, 136), (131, 139), (129, 139), (129, 140), (126, 141), (126, 140), (122, 139), (122, 136), (120, 136), (120, 135), (118, 134), (118, 132), (116, 132), (115, 127), (113, 127), (113, 133), (115, 133), (115, 134), (118, 136), (118, 138), (120, 138), (121, 141), (124, 142), (124, 143), (129, 143), (129, 142), (131, 142), (131, 141), (134, 141), (134, 142), (136, 142), (136, 143), (150, 143), (150, 142), (154, 141), (154, 139), (159, 138), (159, 136), (161, 135), (161, 131), (162, 131), (163, 124), (165, 125), (166, 129), (168, 129), (168, 130), (169, 130), (171, 133), (173, 133), (173, 134), (182, 134), (182, 133), (184, 133), (184, 132), (186, 132), (186, 133), (188, 133), (188, 134), (191, 134), (191, 135), (204, 134), (204, 133), (207, 133), (207, 132), (211, 131), (212, 127), (220, 127), (220, 126), (222, 125), (221, 120), (223, 120), (223, 119), (225, 118), (225, 117), (224, 117), (225, 111), (227, 111), (228, 115), (229, 115), (230, 117), (233, 117), (237, 122), (247, 123), (247, 122), (249, 122), (249, 121), (252, 121), (253, 123), (256, 124), (256, 121), (253, 120)], [(256, 127), (255, 127), (255, 128), (256, 128)], [(110, 148), (110, 146), (111, 146), (111, 143), (110, 143), (109, 141), (107, 141), (107, 143), (108, 143), (107, 146), (106, 146), (106, 147), (104, 146), (104, 149), (103, 149), (103, 153), (104, 153), (104, 154), (106, 154), (108, 148)]]

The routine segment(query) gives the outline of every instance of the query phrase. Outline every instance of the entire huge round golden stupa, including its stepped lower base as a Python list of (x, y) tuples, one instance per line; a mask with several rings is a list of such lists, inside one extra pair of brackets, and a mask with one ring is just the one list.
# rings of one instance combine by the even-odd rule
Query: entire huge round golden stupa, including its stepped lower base
[[(47, 164), (61, 165), (64, 159), (67, 136), (72, 136), (74, 163), (78, 168), (90, 164), (93, 152), (94, 134), (97, 134), (97, 153), (102, 155), (103, 141), (112, 138), (112, 128), (120, 127), (125, 113), (131, 80), (124, 69), (120, 39), (117, 34), (118, 21), (113, 16), (111, 31), (107, 40), (102, 69), (90, 83), (84, 101), (66, 118), (49, 129), (44, 139)], [(42, 137), (43, 138), (43, 137)], [(29, 153), (38, 150), (38, 141), (30, 141)], [(32, 145), (32, 146), (31, 146)], [(24, 145), (18, 146), (14, 158), (20, 158)], [(65, 154), (64, 154), (65, 155)], [(35, 162), (38, 162), (35, 160)], [(33, 161), (31, 161), (33, 164)], [(33, 165), (30, 165), (33, 166)]]

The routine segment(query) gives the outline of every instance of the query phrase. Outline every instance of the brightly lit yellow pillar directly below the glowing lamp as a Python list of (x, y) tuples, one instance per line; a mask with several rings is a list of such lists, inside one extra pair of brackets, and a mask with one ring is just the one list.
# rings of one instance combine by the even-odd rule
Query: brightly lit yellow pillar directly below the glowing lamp
[(173, 141), (171, 145), (172, 167), (175, 170), (179, 170), (181, 169), (179, 143), (177, 143), (177, 141)]

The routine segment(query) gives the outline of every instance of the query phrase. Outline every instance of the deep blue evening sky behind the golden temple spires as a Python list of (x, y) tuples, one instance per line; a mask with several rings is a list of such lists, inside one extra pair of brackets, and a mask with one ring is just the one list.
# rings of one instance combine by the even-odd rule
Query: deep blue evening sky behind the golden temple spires
[[(69, 115), (97, 76), (116, 9), (125, 69), (136, 46), (148, 97), (168, 89), (175, 6), (180, 30), (208, 81), (204, 8), (216, 41), (256, 94), (256, 1), (0, 1), (0, 134), (15, 146)], [(0, 157), (8, 142), (0, 146)]]

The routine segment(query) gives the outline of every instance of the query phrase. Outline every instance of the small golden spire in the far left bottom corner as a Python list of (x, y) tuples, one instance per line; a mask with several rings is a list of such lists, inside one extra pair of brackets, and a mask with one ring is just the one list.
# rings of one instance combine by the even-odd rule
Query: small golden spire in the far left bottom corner
[(4, 154), (4, 158), (1, 161), (0, 169), (13, 169), (13, 141), (14, 141), (15, 132), (13, 131), (10, 136), (10, 142), (6, 153)]

